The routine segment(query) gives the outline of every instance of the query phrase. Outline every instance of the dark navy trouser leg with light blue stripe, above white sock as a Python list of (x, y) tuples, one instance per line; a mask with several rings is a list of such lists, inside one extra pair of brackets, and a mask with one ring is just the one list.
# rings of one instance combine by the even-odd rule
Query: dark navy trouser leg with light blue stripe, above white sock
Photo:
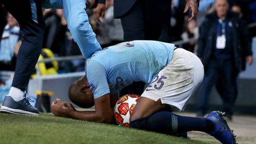
[(42, 49), (44, 20), (40, 0), (3, 0), (6, 9), (19, 22), (22, 44), (19, 49), (13, 87), (25, 91)]

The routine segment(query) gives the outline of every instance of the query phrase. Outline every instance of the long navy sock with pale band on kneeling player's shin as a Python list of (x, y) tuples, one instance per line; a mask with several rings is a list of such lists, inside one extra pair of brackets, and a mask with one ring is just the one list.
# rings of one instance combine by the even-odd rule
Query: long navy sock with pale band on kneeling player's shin
[(159, 111), (151, 116), (136, 119), (131, 127), (165, 134), (188, 131), (211, 132), (213, 124), (205, 118), (179, 116), (170, 111)]

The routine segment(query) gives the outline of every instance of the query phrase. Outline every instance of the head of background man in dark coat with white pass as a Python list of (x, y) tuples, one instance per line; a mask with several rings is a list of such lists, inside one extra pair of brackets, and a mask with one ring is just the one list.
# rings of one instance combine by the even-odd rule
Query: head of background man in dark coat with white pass
[(226, 16), (229, 9), (227, 0), (216, 0), (215, 2), (215, 10), (218, 14), (218, 17)]

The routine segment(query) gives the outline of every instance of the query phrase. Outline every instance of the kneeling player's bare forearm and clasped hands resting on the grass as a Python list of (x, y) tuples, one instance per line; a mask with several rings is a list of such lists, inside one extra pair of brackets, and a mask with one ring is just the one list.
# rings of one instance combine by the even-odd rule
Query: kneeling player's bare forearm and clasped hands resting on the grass
[(55, 116), (81, 119), (84, 121), (111, 123), (113, 122), (113, 108), (110, 107), (110, 95), (105, 94), (94, 99), (95, 111), (77, 111), (70, 103), (57, 99), (51, 109)]

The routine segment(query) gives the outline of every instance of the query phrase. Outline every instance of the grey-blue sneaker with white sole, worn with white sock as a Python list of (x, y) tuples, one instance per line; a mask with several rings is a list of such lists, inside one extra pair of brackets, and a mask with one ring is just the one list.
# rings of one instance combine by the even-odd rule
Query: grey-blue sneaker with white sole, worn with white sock
[(24, 95), (24, 98), (20, 101), (14, 101), (11, 96), (6, 95), (0, 111), (11, 114), (39, 115), (37, 108), (29, 103), (29, 101), (34, 101), (26, 97), (26, 92)]

